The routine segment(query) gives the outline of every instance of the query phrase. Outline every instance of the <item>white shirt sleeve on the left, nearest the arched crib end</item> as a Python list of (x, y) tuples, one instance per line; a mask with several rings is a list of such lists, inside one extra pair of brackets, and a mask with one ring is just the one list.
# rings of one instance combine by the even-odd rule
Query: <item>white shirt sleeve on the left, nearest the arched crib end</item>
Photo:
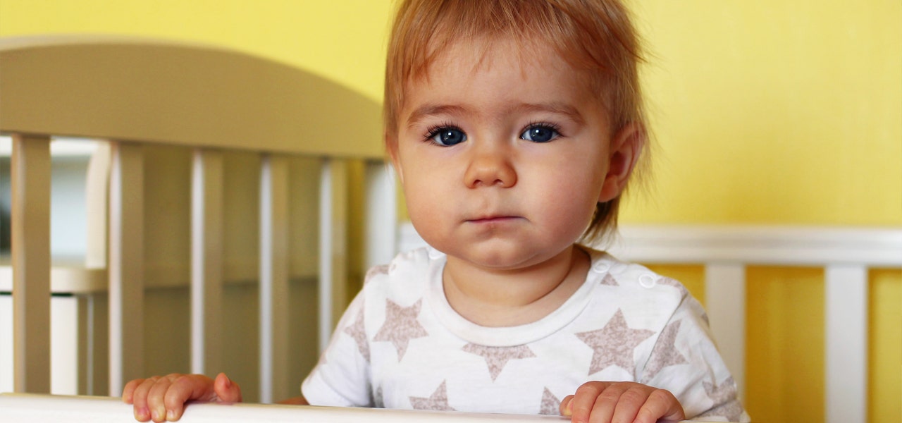
[(345, 310), (319, 363), (301, 384), (311, 405), (373, 407), (364, 291)]

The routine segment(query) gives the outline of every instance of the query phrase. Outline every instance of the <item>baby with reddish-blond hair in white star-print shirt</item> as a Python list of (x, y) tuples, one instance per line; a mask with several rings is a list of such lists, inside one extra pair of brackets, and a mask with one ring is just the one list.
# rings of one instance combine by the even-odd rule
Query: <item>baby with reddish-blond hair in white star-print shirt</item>
[[(646, 150), (640, 45), (616, 0), (410, 0), (385, 144), (429, 244), (372, 269), (290, 403), (748, 420), (703, 308), (588, 248)], [(129, 382), (135, 418), (241, 400), (224, 374)]]

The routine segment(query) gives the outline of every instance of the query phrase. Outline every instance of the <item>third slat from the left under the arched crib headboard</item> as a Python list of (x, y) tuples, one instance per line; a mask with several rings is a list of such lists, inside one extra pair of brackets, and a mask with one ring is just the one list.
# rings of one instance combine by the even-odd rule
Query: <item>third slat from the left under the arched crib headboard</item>
[(191, 165), (191, 372), (222, 370), (223, 154)]

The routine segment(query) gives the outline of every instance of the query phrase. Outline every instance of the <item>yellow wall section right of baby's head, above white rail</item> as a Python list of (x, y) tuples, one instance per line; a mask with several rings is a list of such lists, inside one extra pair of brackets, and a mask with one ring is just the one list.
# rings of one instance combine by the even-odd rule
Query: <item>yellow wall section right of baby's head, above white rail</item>
[(902, 4), (636, 4), (659, 150), (624, 222), (902, 225)]

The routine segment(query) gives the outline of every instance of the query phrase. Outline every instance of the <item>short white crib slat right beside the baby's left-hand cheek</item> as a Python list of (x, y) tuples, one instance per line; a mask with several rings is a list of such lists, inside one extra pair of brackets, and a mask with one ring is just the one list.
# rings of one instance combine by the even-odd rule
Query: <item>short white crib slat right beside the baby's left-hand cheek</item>
[(383, 161), (366, 164), (366, 236), (364, 267), (386, 264), (398, 244), (398, 194), (394, 171)]

